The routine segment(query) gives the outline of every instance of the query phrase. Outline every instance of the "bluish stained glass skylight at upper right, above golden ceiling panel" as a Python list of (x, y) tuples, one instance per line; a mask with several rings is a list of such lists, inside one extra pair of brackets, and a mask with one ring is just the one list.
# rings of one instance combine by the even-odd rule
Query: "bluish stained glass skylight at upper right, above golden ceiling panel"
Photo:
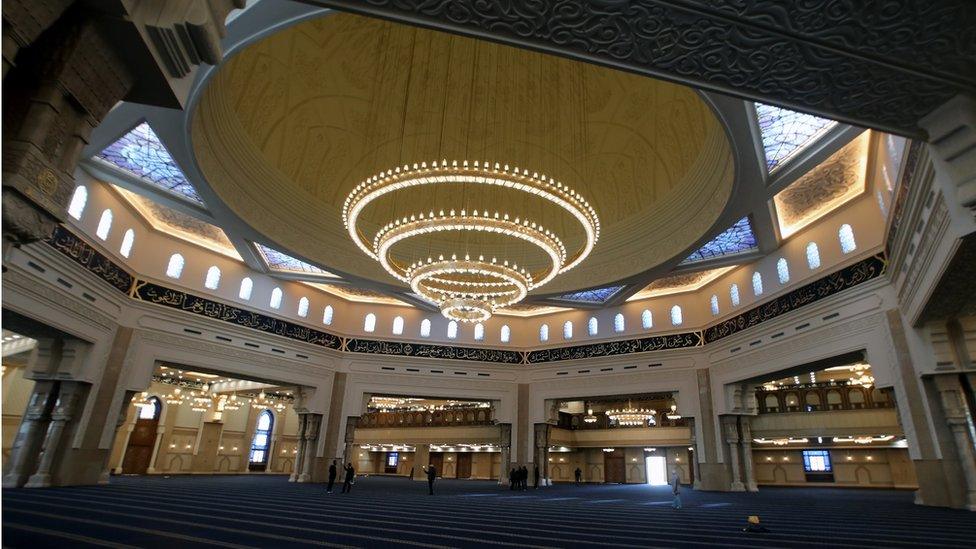
[(837, 125), (833, 120), (763, 103), (756, 103), (756, 114), (770, 173)]

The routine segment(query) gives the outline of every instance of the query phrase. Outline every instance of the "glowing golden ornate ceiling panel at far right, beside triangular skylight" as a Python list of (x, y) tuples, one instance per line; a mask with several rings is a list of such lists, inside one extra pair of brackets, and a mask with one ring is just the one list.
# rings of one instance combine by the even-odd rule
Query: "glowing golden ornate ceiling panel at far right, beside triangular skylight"
[(862, 133), (773, 198), (783, 238), (864, 192), (869, 141)]

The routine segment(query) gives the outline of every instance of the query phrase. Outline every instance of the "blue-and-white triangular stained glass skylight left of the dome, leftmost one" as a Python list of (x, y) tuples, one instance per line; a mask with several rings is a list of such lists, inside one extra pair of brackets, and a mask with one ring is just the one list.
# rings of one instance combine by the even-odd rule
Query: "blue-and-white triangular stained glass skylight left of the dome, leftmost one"
[(97, 156), (157, 187), (203, 204), (193, 184), (183, 175), (156, 132), (146, 122), (130, 130)]

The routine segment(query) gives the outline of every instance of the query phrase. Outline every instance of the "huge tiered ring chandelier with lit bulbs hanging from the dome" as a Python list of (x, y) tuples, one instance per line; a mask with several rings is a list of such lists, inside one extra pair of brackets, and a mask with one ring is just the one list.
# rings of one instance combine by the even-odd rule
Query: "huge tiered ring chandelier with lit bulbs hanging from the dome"
[[(371, 219), (378, 218), (379, 223), (362, 222), (371, 204), (381, 200), (410, 204), (411, 195), (420, 191), (432, 191), (433, 202), (424, 204), (427, 211), (380, 205), (371, 210)], [(463, 198), (469, 192), (477, 198)], [(484, 203), (470, 203), (475, 200)], [(540, 217), (541, 208), (526, 207), (516, 215), (482, 207), (499, 203), (543, 204), (571, 221), (543, 226), (552, 218)], [(342, 219), (350, 238), (366, 255), (440, 308), (445, 317), (461, 322), (481, 322), (498, 308), (518, 303), (528, 292), (579, 265), (600, 236), (596, 211), (570, 187), (518, 167), (467, 160), (405, 164), (380, 172), (346, 197)], [(577, 239), (578, 247), (567, 250), (565, 243), (572, 239), (568, 233), (575, 233), (576, 224), (583, 238)], [(449, 234), (457, 238), (442, 238)], [(432, 252), (429, 243), (434, 238), (439, 246)], [(484, 242), (479, 238), (507, 242), (490, 247), (489, 252), (478, 249)], [(525, 265), (528, 251), (541, 252), (538, 257), (544, 259)]]

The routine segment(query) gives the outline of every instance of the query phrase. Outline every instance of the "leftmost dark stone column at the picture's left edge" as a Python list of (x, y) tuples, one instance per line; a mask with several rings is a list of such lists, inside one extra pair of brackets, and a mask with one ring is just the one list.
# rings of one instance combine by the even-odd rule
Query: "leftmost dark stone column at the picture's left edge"
[(18, 488), (27, 482), (37, 468), (44, 433), (47, 431), (51, 412), (58, 398), (58, 382), (38, 381), (27, 404), (24, 419), (10, 451), (10, 471), (3, 477), (4, 488)]

